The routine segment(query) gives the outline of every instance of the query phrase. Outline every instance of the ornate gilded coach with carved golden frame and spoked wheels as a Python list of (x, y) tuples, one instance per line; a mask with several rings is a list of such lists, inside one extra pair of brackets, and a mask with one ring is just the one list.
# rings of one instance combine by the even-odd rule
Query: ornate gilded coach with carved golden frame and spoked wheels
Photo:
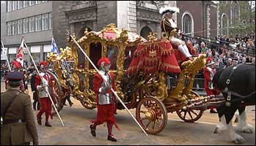
[[(73, 37), (76, 39), (76, 36)], [(156, 53), (173, 53), (171, 48), (163, 50), (161, 47), (169, 43), (167, 40), (157, 39), (156, 34), (150, 34), (148, 39), (125, 29), (120, 30), (111, 23), (98, 32), (89, 32), (86, 29), (84, 37), (76, 40), (94, 64), (101, 57), (111, 60), (110, 72), (115, 74), (118, 96), (128, 109), (136, 108), (136, 119), (142, 128), (149, 134), (156, 134), (166, 126), (167, 112), (177, 112), (186, 122), (194, 122), (202, 116), (203, 109), (183, 107), (188, 104), (188, 100), (202, 99), (191, 91), (191, 88), (195, 74), (205, 66), (205, 55), (194, 58), (194, 61), (183, 62), (175, 87), (168, 88), (169, 76), (166, 68), (155, 67), (152, 73), (144, 72), (143, 69), (133, 70), (130, 66), (134, 59), (133, 55), (138, 52), (136, 50), (141, 45), (149, 46), (140, 47), (142, 52), (150, 48), (149, 56), (142, 57), (155, 61)], [(55, 78), (54, 87), (59, 99), (58, 110), (63, 107), (62, 99), (66, 93), (70, 93), (87, 109), (93, 109), (96, 103), (95, 93), (92, 91), (92, 77), (96, 71), (70, 37), (67, 37), (67, 42), (69, 47), (62, 49), (58, 56), (55, 53), (48, 54), (48, 61), (54, 65), (54, 72), (51, 74), (54, 74)], [(158, 61), (158, 66), (163, 66), (161, 61)], [(165, 67), (167, 66), (168, 64), (165, 64)], [(117, 103), (117, 109), (123, 110), (124, 107)]]

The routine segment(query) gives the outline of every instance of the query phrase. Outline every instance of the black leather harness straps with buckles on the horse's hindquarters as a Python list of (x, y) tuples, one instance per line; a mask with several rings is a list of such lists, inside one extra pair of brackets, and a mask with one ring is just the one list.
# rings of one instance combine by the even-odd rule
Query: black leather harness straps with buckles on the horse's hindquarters
[(225, 106), (226, 106), (226, 107), (230, 107), (230, 106), (231, 106), (231, 95), (232, 95), (232, 94), (235, 95), (235, 96), (243, 97), (243, 99), (244, 99), (244, 98), (247, 98), (247, 97), (249, 97), (249, 96), (252, 96), (252, 94), (255, 93), (255, 91), (254, 91), (254, 92), (250, 93), (250, 94), (247, 95), (247, 96), (241, 96), (240, 94), (235, 93), (235, 92), (229, 90), (230, 81), (231, 81), (230, 78), (232, 77), (232, 75), (233, 75), (235, 69), (237, 69), (238, 66), (240, 66), (240, 65), (241, 65), (241, 64), (238, 64), (238, 65), (236, 65), (236, 66), (233, 67), (232, 71), (230, 72), (229, 77), (228, 77), (227, 80), (226, 80), (226, 87), (224, 88), (224, 92), (227, 93), (227, 99), (226, 99), (226, 101), (225, 101)]

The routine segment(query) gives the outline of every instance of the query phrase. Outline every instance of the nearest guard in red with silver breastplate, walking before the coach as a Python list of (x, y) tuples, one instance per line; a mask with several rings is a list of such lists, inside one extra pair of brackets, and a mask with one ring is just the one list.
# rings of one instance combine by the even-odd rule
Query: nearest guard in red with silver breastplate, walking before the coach
[[(117, 139), (114, 138), (112, 134), (112, 126), (117, 127), (117, 123), (114, 118), (115, 112), (115, 96), (111, 92), (111, 88), (115, 91), (114, 85), (114, 74), (109, 73), (111, 62), (109, 58), (100, 58), (98, 61), (98, 66), (100, 67), (100, 72), (95, 74), (93, 77), (93, 91), (96, 93), (97, 101), (97, 118), (92, 120), (92, 125), (89, 126), (91, 129), (91, 134), (93, 137), (96, 137), (96, 126), (106, 122), (108, 127), (108, 140), (112, 142), (117, 142)], [(106, 80), (107, 82), (104, 82)]]

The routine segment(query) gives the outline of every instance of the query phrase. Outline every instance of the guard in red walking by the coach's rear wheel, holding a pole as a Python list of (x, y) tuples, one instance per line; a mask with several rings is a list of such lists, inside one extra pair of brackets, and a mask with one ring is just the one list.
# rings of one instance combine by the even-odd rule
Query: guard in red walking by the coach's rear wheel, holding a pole
[[(45, 126), (51, 127), (51, 124), (48, 122), (48, 118), (51, 115), (51, 119), (53, 119), (53, 116), (51, 113), (51, 99), (49, 99), (50, 97), (48, 93), (50, 93), (53, 98), (54, 88), (51, 80), (53, 80), (54, 77), (46, 72), (48, 70), (48, 64), (46, 61), (40, 62), (40, 69), (42, 72), (40, 75), (37, 74), (35, 77), (35, 87), (37, 88), (37, 96), (40, 99), (41, 105), (40, 111), (37, 113), (37, 123), (42, 125), (41, 116), (43, 115), (43, 112), (45, 112)], [(43, 77), (43, 81), (40, 76)], [(48, 93), (46, 90), (48, 90)]]

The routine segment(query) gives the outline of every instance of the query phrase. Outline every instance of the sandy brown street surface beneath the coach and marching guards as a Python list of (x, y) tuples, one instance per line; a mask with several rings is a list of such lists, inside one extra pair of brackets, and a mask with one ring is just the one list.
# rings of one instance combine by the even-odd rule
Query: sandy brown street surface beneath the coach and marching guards
[[(30, 89), (30, 86), (29, 86)], [(4, 82), (1, 82), (1, 92), (4, 91)], [(32, 92), (29, 90), (32, 97)], [(53, 127), (44, 126), (45, 115), (43, 115), (42, 126), (37, 126), (40, 145), (235, 145), (227, 137), (227, 134), (213, 134), (216, 124), (219, 123), (218, 115), (206, 110), (200, 120), (195, 123), (184, 123), (178, 115), (168, 113), (167, 126), (156, 135), (149, 134), (148, 137), (142, 132), (136, 122), (125, 110), (118, 110), (116, 115), (117, 125), (121, 131), (113, 126), (113, 134), (117, 142), (106, 139), (106, 124), (97, 127), (96, 137), (92, 137), (89, 130), (90, 120), (94, 120), (97, 109), (87, 110), (78, 100), (71, 98), (73, 106), (68, 102), (60, 112), (65, 123), (63, 127), (59, 118), (54, 116), (50, 120)], [(241, 134), (246, 142), (242, 145), (255, 145), (255, 106), (246, 107), (247, 120), (254, 127), (253, 134)], [(130, 110), (135, 116), (135, 109)], [(34, 119), (36, 114), (34, 111)], [(236, 123), (234, 123), (236, 124)], [(233, 124), (233, 125), (234, 125)]]

